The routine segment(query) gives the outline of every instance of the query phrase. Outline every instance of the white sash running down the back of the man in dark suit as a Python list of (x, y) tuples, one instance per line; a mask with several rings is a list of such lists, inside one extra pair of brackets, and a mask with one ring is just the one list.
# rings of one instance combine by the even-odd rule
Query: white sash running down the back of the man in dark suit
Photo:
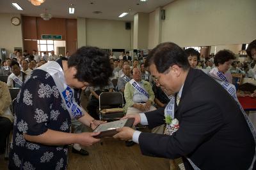
[[(237, 96), (236, 96), (236, 87), (234, 85), (232, 85), (231, 83), (228, 83), (227, 81), (221, 81), (221, 79), (219, 78), (215, 78), (215, 77), (212, 77), (214, 78), (214, 80), (216, 80), (218, 83), (220, 83), (220, 85), (225, 89), (227, 90), (228, 94), (230, 94), (230, 96), (232, 96), (234, 98), (234, 100), (236, 101), (237, 105), (239, 106), (240, 110), (242, 111), (243, 115), (244, 115), (244, 118), (248, 124), (248, 127), (250, 128), (250, 131), (252, 132), (252, 135), (253, 135), (253, 139), (255, 141), (255, 153), (254, 153), (254, 157), (253, 157), (253, 160), (252, 160), (252, 164), (251, 166), (249, 167), (249, 170), (250, 169), (253, 169), (253, 164), (256, 160), (256, 132), (255, 132), (255, 129), (253, 127), (253, 124), (252, 122), (250, 121), (250, 119), (248, 118), (248, 116), (246, 115), (243, 107), (241, 106), (241, 104), (239, 103), (238, 99), (237, 99)], [(189, 160), (189, 159), (188, 159)], [(189, 162), (191, 163), (191, 160), (189, 160)], [(192, 165), (193, 166), (193, 165)]]

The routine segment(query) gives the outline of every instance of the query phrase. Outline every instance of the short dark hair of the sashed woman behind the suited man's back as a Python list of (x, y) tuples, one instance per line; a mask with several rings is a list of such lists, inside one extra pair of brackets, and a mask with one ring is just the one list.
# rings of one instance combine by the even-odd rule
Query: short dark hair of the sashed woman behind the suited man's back
[(214, 57), (214, 64), (215, 66), (219, 66), (219, 64), (224, 64), (225, 62), (234, 59), (236, 59), (235, 54), (230, 50), (220, 50)]

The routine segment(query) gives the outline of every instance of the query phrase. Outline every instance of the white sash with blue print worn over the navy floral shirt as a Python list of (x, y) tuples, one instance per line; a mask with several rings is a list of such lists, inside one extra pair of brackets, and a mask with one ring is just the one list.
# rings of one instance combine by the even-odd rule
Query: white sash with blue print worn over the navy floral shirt
[(80, 118), (83, 116), (83, 108), (76, 103), (74, 99), (74, 89), (70, 88), (65, 81), (63, 69), (56, 61), (49, 61), (46, 64), (38, 67), (47, 73), (51, 74), (56, 87), (60, 92), (60, 96), (68, 110), (71, 118)]

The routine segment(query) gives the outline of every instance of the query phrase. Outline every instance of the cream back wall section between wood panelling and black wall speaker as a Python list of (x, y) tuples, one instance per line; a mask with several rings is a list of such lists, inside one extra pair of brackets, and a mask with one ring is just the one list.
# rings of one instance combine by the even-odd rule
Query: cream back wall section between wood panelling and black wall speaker
[(133, 25), (131, 30), (125, 29), (125, 21), (86, 18), (86, 45), (129, 50), (133, 46), (132, 29)]

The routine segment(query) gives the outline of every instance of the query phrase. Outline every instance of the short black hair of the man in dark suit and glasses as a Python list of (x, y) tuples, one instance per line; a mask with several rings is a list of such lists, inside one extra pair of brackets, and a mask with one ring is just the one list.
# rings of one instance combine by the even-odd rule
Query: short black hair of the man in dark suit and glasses
[(184, 70), (189, 69), (188, 59), (185, 57), (184, 50), (175, 43), (161, 43), (148, 53), (148, 59), (145, 62), (145, 67), (151, 64), (156, 65), (159, 73), (164, 73), (170, 66), (176, 64)]

